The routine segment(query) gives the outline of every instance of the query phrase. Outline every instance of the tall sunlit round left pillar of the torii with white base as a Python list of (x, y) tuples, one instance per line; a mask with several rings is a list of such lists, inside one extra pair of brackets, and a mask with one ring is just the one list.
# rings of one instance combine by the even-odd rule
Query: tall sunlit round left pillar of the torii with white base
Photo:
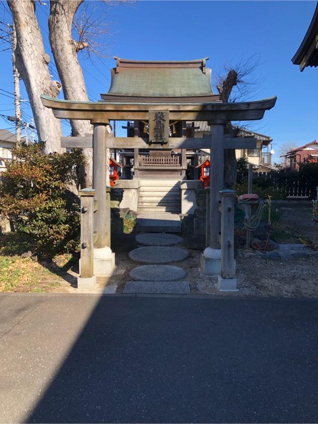
[[(115, 267), (115, 254), (110, 245), (110, 211), (106, 201), (106, 137), (108, 121), (92, 119), (93, 129), (93, 189), (98, 209), (94, 214), (94, 274), (110, 276)], [(107, 213), (108, 211), (108, 213)], [(107, 229), (109, 229), (107, 231)]]

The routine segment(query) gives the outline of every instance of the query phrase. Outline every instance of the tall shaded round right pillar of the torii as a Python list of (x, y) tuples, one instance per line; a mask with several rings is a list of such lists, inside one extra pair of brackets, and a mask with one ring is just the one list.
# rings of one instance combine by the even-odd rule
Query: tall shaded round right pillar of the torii
[(224, 125), (225, 121), (216, 119), (211, 125), (211, 167), (210, 167), (210, 245), (201, 257), (201, 268), (205, 275), (221, 273), (221, 215), (219, 212), (220, 191), (224, 188)]

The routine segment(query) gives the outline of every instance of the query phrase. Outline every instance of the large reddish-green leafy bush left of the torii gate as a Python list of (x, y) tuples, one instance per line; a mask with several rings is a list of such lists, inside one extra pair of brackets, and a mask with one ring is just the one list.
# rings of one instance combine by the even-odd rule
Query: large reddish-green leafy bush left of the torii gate
[(79, 204), (70, 191), (78, 150), (42, 153), (44, 143), (14, 148), (0, 176), (0, 212), (13, 221), (29, 249), (43, 255), (74, 250), (79, 245)]

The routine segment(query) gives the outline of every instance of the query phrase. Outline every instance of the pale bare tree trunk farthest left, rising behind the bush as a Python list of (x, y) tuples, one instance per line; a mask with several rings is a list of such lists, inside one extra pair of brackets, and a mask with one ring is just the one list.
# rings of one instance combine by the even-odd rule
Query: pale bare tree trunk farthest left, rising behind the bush
[(48, 69), (50, 57), (44, 51), (43, 39), (32, 0), (10, 0), (17, 37), (16, 66), (24, 81), (40, 141), (46, 142), (45, 153), (61, 152), (61, 123), (51, 109), (42, 105), (40, 95), (57, 97), (61, 84), (52, 81)]

